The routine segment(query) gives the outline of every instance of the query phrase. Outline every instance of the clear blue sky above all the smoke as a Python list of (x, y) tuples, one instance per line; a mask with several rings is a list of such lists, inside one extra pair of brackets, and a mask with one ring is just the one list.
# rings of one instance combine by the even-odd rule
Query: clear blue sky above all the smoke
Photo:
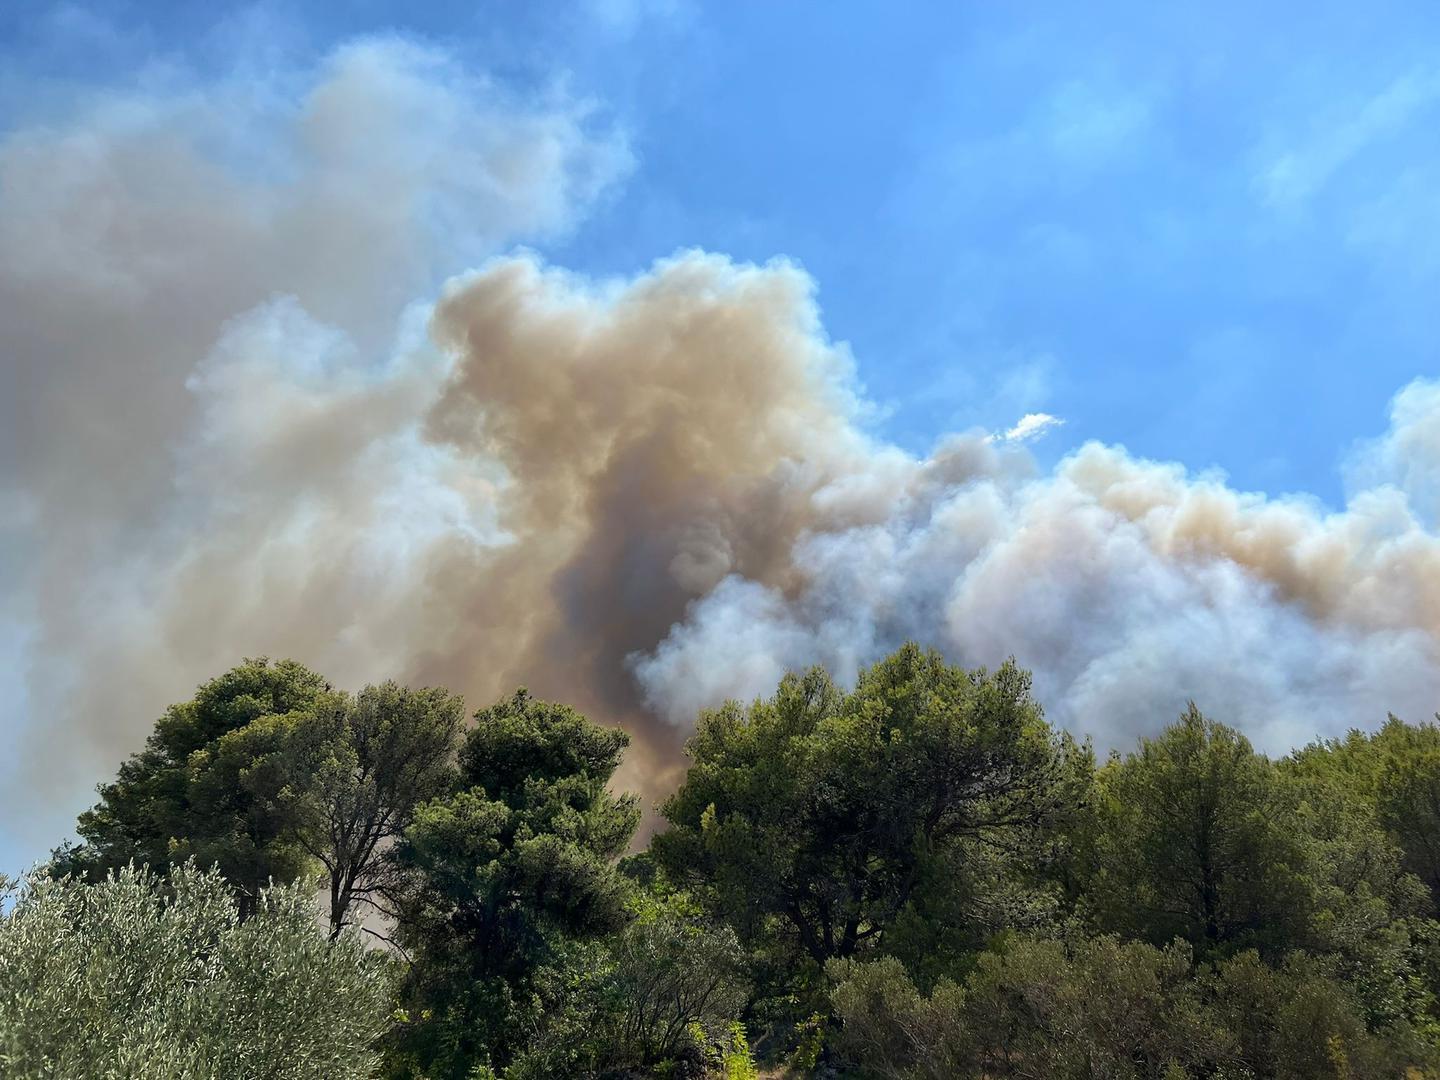
[(422, 35), (626, 130), (632, 176), (549, 258), (799, 261), (901, 445), (1044, 410), (1043, 455), (1100, 438), (1336, 504), (1352, 442), (1440, 369), (1440, 9), (877, 10), (9, 6), (4, 102), (236, 37)]

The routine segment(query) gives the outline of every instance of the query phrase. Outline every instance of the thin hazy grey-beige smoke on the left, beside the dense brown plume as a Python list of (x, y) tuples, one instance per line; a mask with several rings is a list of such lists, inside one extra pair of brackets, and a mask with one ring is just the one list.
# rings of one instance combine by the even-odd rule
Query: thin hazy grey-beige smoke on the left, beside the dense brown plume
[(405, 40), (138, 82), (0, 138), (0, 831), (26, 850), (206, 671), (405, 672), (418, 560), (484, 528), (492, 482), (419, 438), (444, 361), (410, 305), (631, 167), (588, 104)]

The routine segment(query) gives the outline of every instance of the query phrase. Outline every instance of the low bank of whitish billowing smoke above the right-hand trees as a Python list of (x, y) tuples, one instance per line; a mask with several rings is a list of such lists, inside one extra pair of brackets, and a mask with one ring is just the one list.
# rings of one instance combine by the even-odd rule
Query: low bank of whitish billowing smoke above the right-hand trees
[[(795, 559), (791, 596), (727, 580), (635, 660), (652, 707), (683, 724), (776, 668), (852, 675), (904, 638), (1021, 658), (1051, 719), (1112, 746), (1187, 698), (1272, 750), (1440, 701), (1440, 543), (1398, 490), (1325, 514), (1092, 444), (1050, 477), (897, 492), (883, 524), (815, 530)], [(710, 655), (746, 674), (707, 684)]]

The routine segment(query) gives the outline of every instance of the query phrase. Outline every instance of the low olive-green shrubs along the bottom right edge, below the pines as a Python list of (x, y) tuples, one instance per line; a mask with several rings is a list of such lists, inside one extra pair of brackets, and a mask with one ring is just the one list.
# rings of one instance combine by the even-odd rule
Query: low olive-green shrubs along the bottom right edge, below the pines
[(1416, 1076), (1434, 1053), (1404, 1027), (1371, 1031), (1315, 960), (1244, 952), (1195, 968), (1187, 946), (1113, 936), (1017, 937), (960, 985), (926, 996), (894, 959), (831, 965), (840, 1047), (864, 1076)]

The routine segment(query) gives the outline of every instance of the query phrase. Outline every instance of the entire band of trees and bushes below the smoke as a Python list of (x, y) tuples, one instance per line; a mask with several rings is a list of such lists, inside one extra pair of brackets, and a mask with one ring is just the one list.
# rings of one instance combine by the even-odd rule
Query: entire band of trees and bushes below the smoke
[(13, 884), (0, 1073), (1440, 1076), (1433, 723), (1099, 760), (910, 644), (701, 713), (644, 848), (626, 746), (245, 661)]

